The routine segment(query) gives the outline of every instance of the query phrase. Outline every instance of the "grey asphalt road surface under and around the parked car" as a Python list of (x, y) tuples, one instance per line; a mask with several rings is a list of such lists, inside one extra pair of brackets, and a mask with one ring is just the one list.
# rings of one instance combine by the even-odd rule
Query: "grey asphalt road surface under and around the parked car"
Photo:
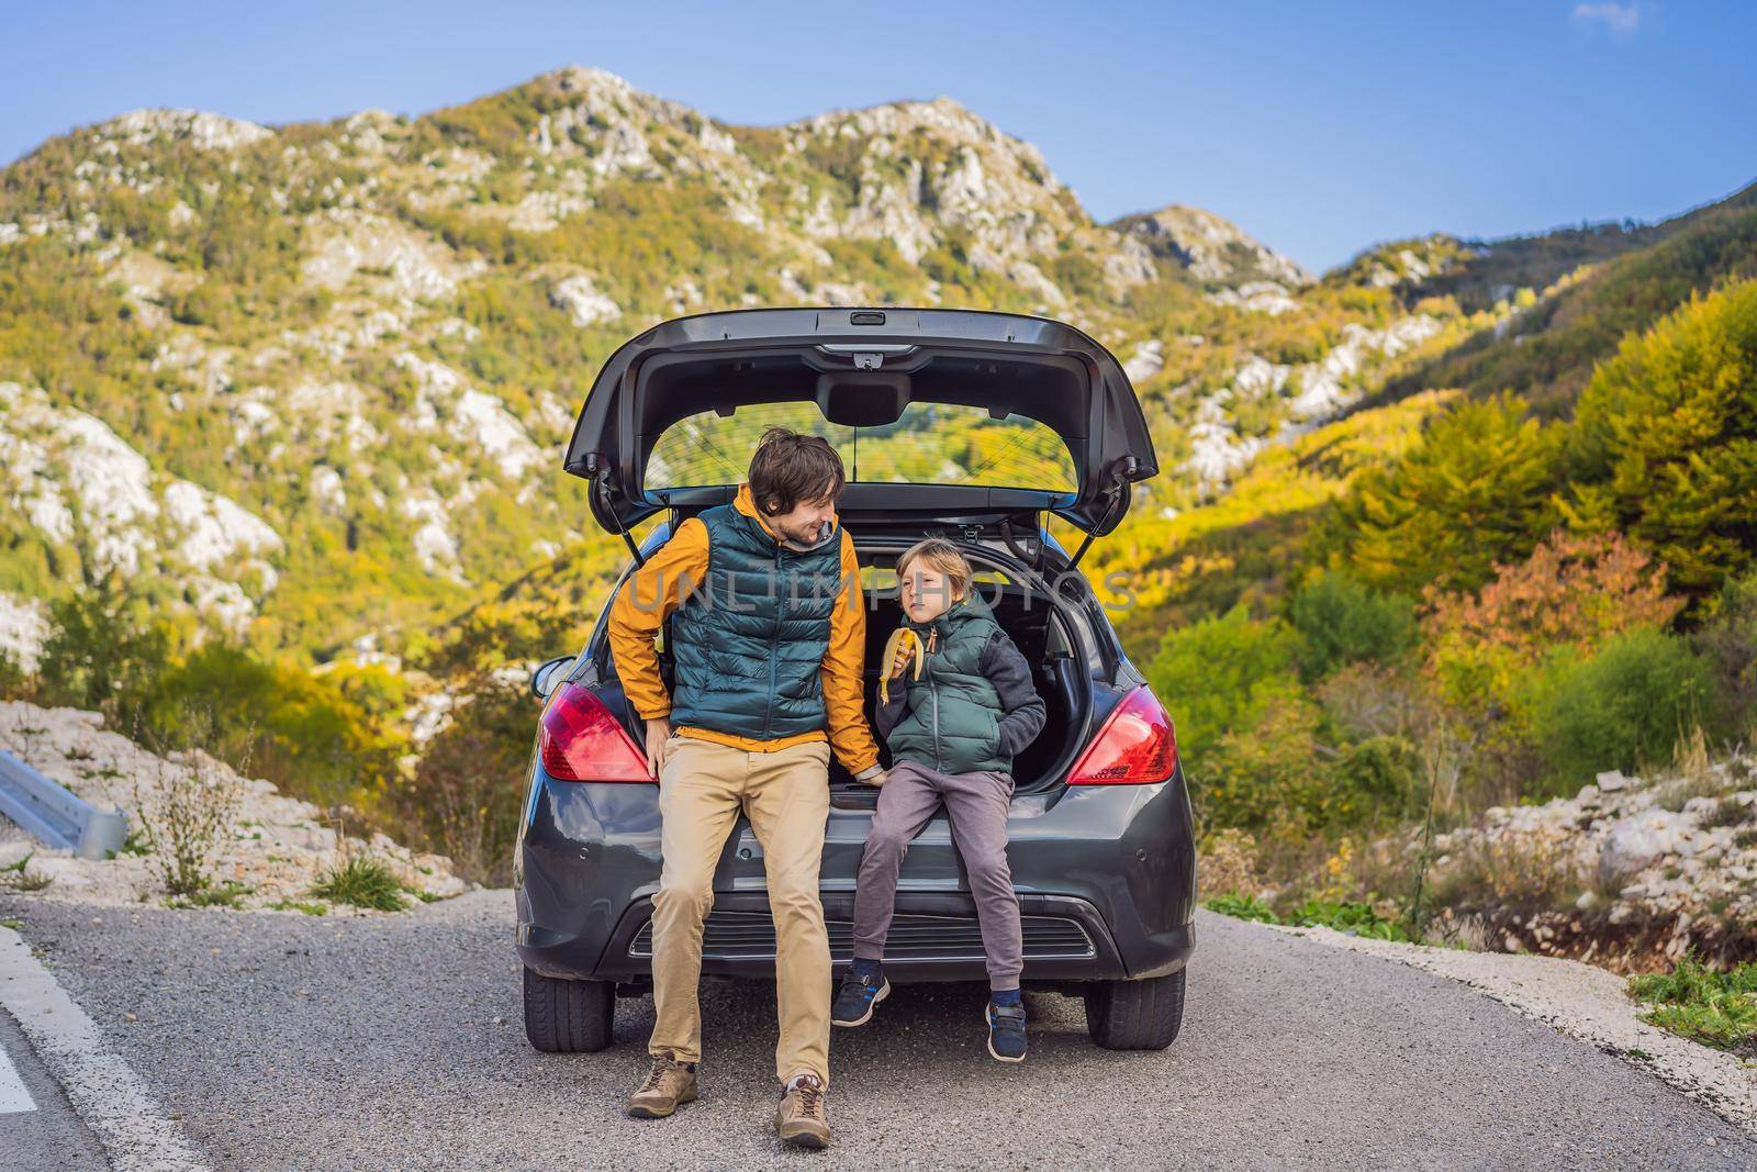
[(1708, 1109), (1460, 984), (1207, 914), (1160, 1054), (1098, 1051), (1077, 1002), (1031, 996), (1031, 1058), (1003, 1068), (979, 986), (900, 988), (836, 1033), (828, 1156), (770, 1130), (770, 986), (705, 989), (703, 1098), (668, 1121), (622, 1116), (650, 1002), (603, 1054), (531, 1051), (504, 891), (351, 921), (0, 917), (223, 1168), (1757, 1167)]

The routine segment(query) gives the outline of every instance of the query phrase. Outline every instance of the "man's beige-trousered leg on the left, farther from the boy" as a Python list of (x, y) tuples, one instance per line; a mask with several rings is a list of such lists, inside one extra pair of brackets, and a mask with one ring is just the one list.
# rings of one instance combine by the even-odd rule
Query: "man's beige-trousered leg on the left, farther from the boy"
[(713, 868), (738, 821), (752, 754), (692, 736), (669, 742), (659, 771), (659, 891), (654, 894), (654, 1033), (647, 1051), (701, 1061), (701, 921)]

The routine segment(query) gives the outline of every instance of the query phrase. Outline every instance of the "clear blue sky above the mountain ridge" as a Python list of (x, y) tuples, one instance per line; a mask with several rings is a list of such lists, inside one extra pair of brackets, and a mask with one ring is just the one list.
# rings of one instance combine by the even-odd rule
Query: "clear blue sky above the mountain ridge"
[(949, 95), (1100, 220), (1181, 202), (1312, 267), (1655, 220), (1757, 177), (1757, 5), (9, 5), (0, 158), (141, 105), (416, 114), (566, 63), (736, 123)]

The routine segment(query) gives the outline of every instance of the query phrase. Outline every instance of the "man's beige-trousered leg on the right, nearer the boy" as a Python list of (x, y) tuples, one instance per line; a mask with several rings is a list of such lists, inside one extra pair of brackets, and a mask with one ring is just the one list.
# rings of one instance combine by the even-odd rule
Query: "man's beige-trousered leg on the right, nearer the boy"
[(829, 743), (752, 754), (745, 814), (763, 843), (775, 917), (775, 1075), (829, 1084), (829, 933), (817, 889), (829, 821)]

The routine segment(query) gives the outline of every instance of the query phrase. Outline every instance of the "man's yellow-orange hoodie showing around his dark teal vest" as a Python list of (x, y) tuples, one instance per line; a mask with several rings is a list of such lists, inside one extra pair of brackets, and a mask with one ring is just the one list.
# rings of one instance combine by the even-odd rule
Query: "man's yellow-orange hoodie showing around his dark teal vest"
[[(733, 506), (745, 517), (756, 518), (763, 525), (763, 532), (775, 536), (768, 520), (757, 511), (750, 485), (738, 485)], [(685, 590), (706, 576), (708, 527), (699, 518), (691, 517), (629, 576), (627, 589), (610, 606), (610, 650), (617, 657), (622, 694), (629, 698), (629, 705), (643, 720), (654, 720), (671, 712), (671, 698), (664, 691), (664, 680), (659, 678), (654, 638), (671, 611), (683, 603)], [(659, 597), (661, 590), (664, 590), (662, 599)], [(829, 747), (849, 773), (859, 773), (878, 763), (878, 742), (873, 740), (864, 717), (864, 668), (866, 606), (861, 592), (859, 559), (854, 553), (854, 538), (843, 529), (842, 594), (829, 615), (829, 647), (824, 652), (822, 685)], [(754, 752), (773, 752), (824, 740), (822, 731), (766, 742), (698, 727), (680, 727), (676, 734)]]

